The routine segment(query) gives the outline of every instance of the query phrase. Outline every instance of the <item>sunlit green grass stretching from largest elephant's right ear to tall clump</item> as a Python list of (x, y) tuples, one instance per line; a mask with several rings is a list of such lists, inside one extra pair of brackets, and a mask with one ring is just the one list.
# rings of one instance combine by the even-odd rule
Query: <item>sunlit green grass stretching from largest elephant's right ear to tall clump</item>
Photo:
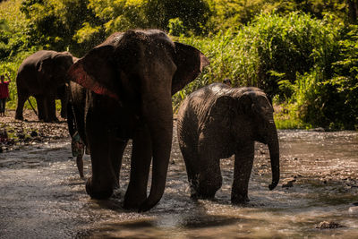
[(221, 31), (210, 38), (177, 38), (199, 48), (210, 66), (175, 96), (175, 104), (200, 86), (225, 78), (235, 86), (257, 86), (281, 101), (299, 90), (294, 97), (304, 100), (303, 91), (311, 85), (303, 89), (303, 81), (308, 80), (297, 76), (320, 71), (322, 78), (329, 77), (338, 55), (338, 30), (308, 14), (262, 13), (240, 30)]

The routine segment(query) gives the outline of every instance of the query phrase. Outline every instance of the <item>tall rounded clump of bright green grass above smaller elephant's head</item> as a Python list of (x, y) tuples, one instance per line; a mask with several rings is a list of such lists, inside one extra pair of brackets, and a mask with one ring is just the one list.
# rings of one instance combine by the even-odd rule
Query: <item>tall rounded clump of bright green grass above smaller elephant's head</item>
[(280, 81), (294, 83), (297, 74), (316, 67), (328, 75), (337, 53), (337, 30), (307, 14), (260, 14), (242, 37), (257, 61), (257, 85), (272, 97), (289, 98), (289, 91), (280, 91)]

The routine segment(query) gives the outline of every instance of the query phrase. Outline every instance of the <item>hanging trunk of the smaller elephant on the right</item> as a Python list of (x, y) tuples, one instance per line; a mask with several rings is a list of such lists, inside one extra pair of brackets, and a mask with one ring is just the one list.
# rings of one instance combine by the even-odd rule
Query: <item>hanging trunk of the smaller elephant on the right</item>
[(270, 123), (268, 130), (268, 150), (272, 171), (272, 183), (268, 185), (268, 188), (269, 190), (273, 190), (277, 186), (280, 177), (278, 136), (273, 121)]

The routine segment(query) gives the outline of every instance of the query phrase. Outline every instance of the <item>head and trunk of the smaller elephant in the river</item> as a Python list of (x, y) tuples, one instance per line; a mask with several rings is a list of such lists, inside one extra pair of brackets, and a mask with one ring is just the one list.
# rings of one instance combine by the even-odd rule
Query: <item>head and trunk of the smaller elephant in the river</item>
[[(273, 118), (273, 107), (267, 95), (258, 88), (243, 87), (238, 89), (224, 88), (223, 96), (217, 98), (217, 105), (224, 107), (231, 114), (230, 124), (235, 135), (249, 135), (252, 141), (260, 141), (268, 145), (273, 190), (279, 181), (279, 145), (277, 128)], [(219, 109), (218, 109), (219, 110)], [(240, 137), (240, 136), (238, 136)]]

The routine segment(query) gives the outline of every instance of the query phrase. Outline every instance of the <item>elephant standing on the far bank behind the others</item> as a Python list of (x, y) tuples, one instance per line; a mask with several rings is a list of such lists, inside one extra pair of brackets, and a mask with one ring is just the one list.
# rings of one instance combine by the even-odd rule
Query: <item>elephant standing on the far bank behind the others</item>
[(61, 100), (61, 116), (65, 118), (69, 98), (66, 73), (76, 59), (68, 52), (47, 50), (27, 57), (16, 77), (18, 100), (15, 119), (23, 120), (23, 105), (30, 96), (35, 97), (38, 103), (38, 120), (57, 121), (56, 98)]

